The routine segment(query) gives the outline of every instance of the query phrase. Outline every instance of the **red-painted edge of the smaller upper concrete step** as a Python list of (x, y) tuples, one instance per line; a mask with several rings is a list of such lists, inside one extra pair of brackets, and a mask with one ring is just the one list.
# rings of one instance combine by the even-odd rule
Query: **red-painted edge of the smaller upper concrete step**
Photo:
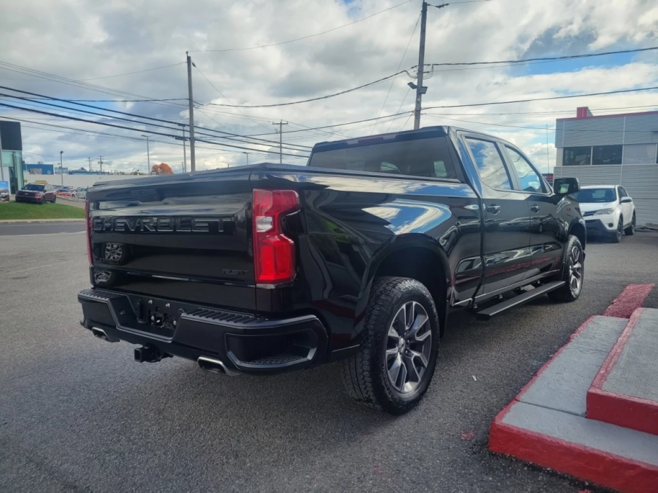
[(638, 308), (633, 312), (626, 329), (619, 336), (615, 346), (601, 365), (601, 369), (594, 377), (594, 381), (587, 391), (586, 416), (588, 419), (597, 419), (624, 428), (658, 434), (658, 402), (613, 394), (603, 390), (603, 385), (619, 360), (626, 342), (630, 339), (642, 310), (642, 308)]

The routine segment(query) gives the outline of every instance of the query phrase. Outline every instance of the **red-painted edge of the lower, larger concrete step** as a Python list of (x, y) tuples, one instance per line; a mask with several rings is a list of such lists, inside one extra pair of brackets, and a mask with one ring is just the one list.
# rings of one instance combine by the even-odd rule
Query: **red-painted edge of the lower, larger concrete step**
[(497, 454), (513, 456), (622, 492), (655, 491), (655, 486), (658, 484), (658, 467), (654, 465), (503, 423), (503, 418), (511, 407), (520, 401), (520, 397), (534, 381), (593, 318), (594, 316), (584, 321), (569, 337), (567, 343), (542, 365), (519, 394), (496, 415), (489, 431), (489, 449)]

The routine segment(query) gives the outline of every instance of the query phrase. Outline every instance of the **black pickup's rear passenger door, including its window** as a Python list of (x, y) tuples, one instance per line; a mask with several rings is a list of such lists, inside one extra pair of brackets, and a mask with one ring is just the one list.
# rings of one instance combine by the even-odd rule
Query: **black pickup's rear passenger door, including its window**
[(526, 194), (515, 190), (503, 151), (494, 139), (463, 133), (470, 158), (482, 183), (484, 206), (484, 290), (505, 291), (509, 285), (530, 277), (530, 211)]

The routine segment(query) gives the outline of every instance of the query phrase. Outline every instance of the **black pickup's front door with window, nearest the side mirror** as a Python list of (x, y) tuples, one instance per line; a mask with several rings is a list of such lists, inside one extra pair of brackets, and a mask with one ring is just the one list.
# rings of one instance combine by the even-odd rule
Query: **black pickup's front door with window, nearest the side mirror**
[(532, 269), (547, 271), (559, 268), (563, 256), (559, 241), (560, 225), (555, 197), (536, 168), (519, 149), (503, 145), (510, 170), (516, 174), (519, 189), (526, 193), (530, 209), (530, 249)]

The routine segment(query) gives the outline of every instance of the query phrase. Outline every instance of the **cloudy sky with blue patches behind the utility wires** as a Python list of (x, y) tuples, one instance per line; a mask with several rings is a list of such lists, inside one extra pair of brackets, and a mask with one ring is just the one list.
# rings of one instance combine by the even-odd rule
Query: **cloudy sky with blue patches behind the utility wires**
[[(426, 63), (518, 60), (658, 45), (655, 0), (459, 1), (463, 0), (442, 9), (429, 7)], [(387, 118), (413, 109), (413, 91), (407, 87), (412, 79), (402, 74), (345, 95), (297, 105), (231, 108), (208, 103), (288, 103), (410, 69), (418, 63), (420, 4), (420, 0), (3, 2), (0, 85), (63, 99), (112, 100), (88, 104), (160, 118), (167, 122), (159, 124), (177, 127), (188, 117), (184, 62), (190, 51), (196, 65), (192, 74), (195, 122), (205, 128), (199, 131), (217, 137), (204, 139), (253, 149), (248, 156), (251, 163), (276, 160), (278, 156), (267, 154), (278, 152), (272, 122), (283, 120), (288, 122), (283, 136), (284, 145), (289, 146), (286, 152), (297, 156), (284, 158), (305, 164), (301, 156), (307, 148), (300, 146), (413, 128), (413, 117), (407, 113)], [(394, 8), (376, 14), (390, 7)], [(339, 28), (355, 21), (359, 22)], [(300, 37), (305, 39), (283, 43)], [(424, 107), (657, 86), (658, 51), (514, 66), (443, 66), (436, 68), (425, 85)], [(0, 93), (17, 95), (7, 89)], [(116, 101), (134, 99), (172, 101)], [(56, 162), (59, 151), (64, 151), (64, 160), (72, 167), (87, 166), (91, 156), (97, 168), (97, 156), (103, 155), (104, 169), (146, 170), (141, 135), (148, 134), (151, 163), (167, 162), (174, 170), (181, 169), (181, 141), (155, 133), (180, 135), (179, 131), (111, 118), (118, 114), (101, 117), (72, 112), (80, 106), (70, 103), (57, 103), (62, 109), (6, 96), (0, 102), (134, 128), (0, 108), (0, 117), (23, 120), (26, 162)], [(421, 124), (453, 124), (500, 135), (519, 145), (544, 170), (555, 162), (551, 131), (555, 118), (575, 116), (576, 106), (589, 106), (594, 114), (653, 110), (658, 108), (658, 91), (428, 109)], [(307, 130), (378, 116), (384, 118)], [(211, 129), (261, 134), (257, 138), (272, 143), (228, 141)], [(245, 164), (247, 155), (242, 151), (197, 143), (197, 169)]]

